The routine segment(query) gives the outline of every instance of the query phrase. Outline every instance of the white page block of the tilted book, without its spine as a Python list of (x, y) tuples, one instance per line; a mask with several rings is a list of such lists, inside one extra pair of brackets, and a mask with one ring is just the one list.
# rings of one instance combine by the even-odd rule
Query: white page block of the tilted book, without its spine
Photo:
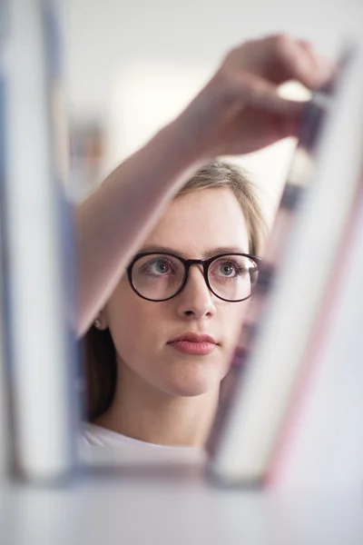
[(209, 471), (226, 483), (255, 484), (268, 476), (358, 192), (363, 149), (358, 50), (342, 68), (329, 107), (309, 191), (289, 233), (243, 377), (234, 384), (227, 420), (210, 450)]

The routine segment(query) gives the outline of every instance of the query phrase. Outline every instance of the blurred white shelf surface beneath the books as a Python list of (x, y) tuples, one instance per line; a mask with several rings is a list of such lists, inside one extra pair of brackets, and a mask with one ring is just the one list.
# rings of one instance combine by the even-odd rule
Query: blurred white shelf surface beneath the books
[(221, 490), (201, 476), (130, 470), (84, 477), (69, 488), (6, 485), (2, 545), (361, 545), (357, 490)]

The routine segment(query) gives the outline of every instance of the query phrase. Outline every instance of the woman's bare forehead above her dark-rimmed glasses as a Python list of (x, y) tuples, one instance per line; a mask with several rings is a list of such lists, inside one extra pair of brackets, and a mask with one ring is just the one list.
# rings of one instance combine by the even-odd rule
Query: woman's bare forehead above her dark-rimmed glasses
[(174, 199), (144, 245), (166, 246), (189, 257), (224, 246), (248, 253), (249, 233), (231, 190), (209, 188)]

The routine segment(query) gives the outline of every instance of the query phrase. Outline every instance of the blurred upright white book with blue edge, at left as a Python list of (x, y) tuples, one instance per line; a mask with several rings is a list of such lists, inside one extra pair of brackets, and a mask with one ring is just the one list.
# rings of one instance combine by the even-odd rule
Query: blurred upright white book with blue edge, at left
[[(9, 3), (6, 216), (15, 470), (32, 481), (74, 471), (73, 255), (58, 138), (56, 19), (40, 0)], [(67, 322), (68, 320), (68, 322)]]

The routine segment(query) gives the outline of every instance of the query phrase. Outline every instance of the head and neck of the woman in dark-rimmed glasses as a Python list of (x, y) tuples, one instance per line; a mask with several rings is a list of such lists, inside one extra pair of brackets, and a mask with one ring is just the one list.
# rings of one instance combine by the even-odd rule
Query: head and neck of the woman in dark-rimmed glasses
[(237, 167), (209, 163), (182, 187), (87, 333), (97, 424), (86, 427), (88, 442), (203, 445), (263, 234), (253, 186)]

